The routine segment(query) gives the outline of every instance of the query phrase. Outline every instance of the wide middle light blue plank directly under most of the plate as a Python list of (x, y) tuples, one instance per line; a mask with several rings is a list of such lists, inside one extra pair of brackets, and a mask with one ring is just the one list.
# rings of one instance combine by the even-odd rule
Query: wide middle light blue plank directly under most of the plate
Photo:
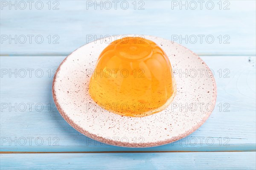
[[(61, 117), (52, 100), (51, 88), (54, 69), (63, 59), (64, 56), (0, 57), (1, 151), (255, 150), (255, 57), (203, 56), (202, 59), (214, 71), (218, 88), (212, 115), (185, 139), (160, 147), (140, 149), (109, 146), (89, 139)], [(11, 73), (15, 69), (17, 73)]]

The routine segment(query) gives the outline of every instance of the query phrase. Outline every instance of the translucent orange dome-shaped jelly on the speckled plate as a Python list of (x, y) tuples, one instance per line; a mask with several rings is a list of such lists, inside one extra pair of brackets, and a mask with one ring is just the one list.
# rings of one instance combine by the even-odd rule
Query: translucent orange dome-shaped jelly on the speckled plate
[(142, 117), (165, 109), (176, 94), (166, 53), (153, 41), (125, 37), (100, 54), (89, 93), (105, 110)]

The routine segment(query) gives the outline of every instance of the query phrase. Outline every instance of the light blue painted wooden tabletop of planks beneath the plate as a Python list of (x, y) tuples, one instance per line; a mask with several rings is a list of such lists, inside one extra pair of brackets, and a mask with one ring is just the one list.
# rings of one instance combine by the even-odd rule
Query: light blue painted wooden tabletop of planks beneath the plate
[[(0, 3), (1, 170), (256, 169), (254, 0)], [(163, 37), (200, 55), (218, 88), (204, 125), (172, 144), (126, 148), (65, 122), (52, 99), (56, 68), (79, 46), (117, 34)]]

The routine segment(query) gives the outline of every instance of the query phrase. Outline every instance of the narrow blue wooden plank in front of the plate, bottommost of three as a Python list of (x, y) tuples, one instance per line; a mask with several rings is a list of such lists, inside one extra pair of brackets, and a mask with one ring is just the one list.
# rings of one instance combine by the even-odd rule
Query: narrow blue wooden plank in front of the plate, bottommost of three
[(255, 152), (1, 154), (1, 169), (254, 170)]

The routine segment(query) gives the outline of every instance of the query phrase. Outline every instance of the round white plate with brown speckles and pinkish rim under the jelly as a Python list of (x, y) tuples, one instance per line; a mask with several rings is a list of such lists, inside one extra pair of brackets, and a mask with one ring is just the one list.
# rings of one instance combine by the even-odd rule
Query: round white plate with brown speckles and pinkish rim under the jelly
[[(134, 36), (134, 35), (129, 35)], [(84, 135), (122, 147), (152, 147), (175, 142), (198, 129), (216, 100), (215, 79), (205, 62), (189, 49), (159, 37), (177, 83), (177, 94), (165, 110), (145, 117), (127, 117), (104, 110), (88, 94), (91, 70), (114, 37), (90, 42), (73, 51), (55, 74), (54, 102), (63, 118)]]

